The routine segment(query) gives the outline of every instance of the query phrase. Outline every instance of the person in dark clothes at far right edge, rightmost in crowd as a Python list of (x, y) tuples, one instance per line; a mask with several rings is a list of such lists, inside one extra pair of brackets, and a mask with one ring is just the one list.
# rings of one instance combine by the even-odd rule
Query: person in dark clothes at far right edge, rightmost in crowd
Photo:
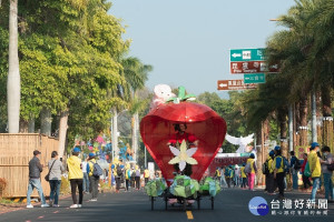
[(334, 188), (332, 182), (333, 171), (328, 170), (328, 165), (334, 162), (330, 147), (322, 148), (323, 159), (321, 160), (322, 172), (324, 175), (325, 199), (330, 203), (334, 202)]

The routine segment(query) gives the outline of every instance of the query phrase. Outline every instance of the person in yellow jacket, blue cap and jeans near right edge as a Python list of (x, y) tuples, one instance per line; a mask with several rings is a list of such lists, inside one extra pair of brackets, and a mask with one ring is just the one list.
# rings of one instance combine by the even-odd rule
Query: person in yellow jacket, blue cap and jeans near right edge
[(317, 142), (313, 142), (310, 148), (310, 154), (307, 158), (310, 170), (311, 170), (311, 178), (313, 180), (313, 189), (311, 192), (311, 201), (315, 201), (315, 194), (317, 189), (320, 188), (320, 180), (322, 174), (322, 167), (320, 162), (320, 158), (317, 155), (317, 152), (320, 150), (320, 145)]

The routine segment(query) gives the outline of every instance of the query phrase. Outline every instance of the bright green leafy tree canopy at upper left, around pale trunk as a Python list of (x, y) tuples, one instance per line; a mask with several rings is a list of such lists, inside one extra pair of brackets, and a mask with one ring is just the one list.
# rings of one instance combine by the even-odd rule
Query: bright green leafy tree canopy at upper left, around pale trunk
[[(76, 134), (90, 138), (106, 129), (111, 107), (124, 102), (111, 91), (126, 83), (120, 58), (129, 47), (129, 41), (121, 39), (125, 29), (119, 20), (107, 13), (110, 7), (105, 0), (19, 1), (21, 119), (38, 118), (42, 108), (53, 115), (69, 109), (70, 139)], [(2, 110), (8, 70), (7, 2), (0, 13)], [(4, 121), (1, 112), (1, 124)]]

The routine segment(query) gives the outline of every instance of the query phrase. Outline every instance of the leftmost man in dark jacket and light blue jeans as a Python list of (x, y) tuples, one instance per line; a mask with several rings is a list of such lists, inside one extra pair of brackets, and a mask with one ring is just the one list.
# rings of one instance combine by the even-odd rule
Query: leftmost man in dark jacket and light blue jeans
[(27, 208), (31, 209), (33, 205), (31, 204), (30, 195), (33, 189), (37, 189), (39, 198), (42, 202), (41, 208), (49, 208), (49, 204), (46, 202), (46, 198), (43, 194), (43, 190), (40, 182), (40, 173), (43, 171), (43, 165), (40, 163), (40, 153), (38, 150), (33, 151), (33, 158), (29, 161), (29, 183), (28, 183), (28, 192), (27, 192)]

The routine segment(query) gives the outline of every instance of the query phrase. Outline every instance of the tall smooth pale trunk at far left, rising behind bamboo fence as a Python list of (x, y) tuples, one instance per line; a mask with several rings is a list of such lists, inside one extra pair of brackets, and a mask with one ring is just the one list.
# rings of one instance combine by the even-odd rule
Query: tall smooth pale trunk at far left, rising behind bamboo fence
[(7, 79), (8, 132), (20, 129), (20, 67), (18, 56), (18, 0), (10, 0), (9, 9), (9, 60)]

